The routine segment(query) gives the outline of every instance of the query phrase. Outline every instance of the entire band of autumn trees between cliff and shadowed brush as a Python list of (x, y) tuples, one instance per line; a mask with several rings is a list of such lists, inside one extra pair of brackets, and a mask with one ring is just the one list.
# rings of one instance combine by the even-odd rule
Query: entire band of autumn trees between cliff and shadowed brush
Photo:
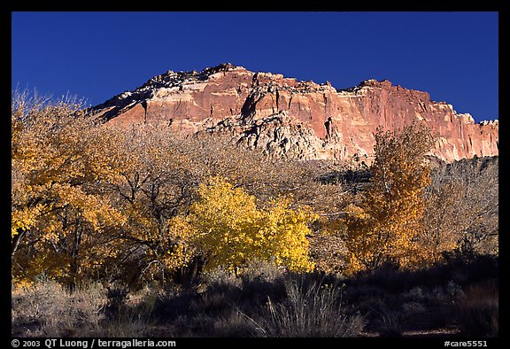
[[(497, 248), (494, 171), (430, 175), (432, 145), (417, 125), (380, 130), (371, 182), (352, 192), (316, 180), (329, 167), (170, 128), (109, 128), (77, 101), (16, 94), (12, 275), (135, 284), (217, 266), (240, 272), (249, 260), (348, 273), (416, 268), (463, 239)], [(451, 200), (466, 203), (468, 221), (450, 217)]]

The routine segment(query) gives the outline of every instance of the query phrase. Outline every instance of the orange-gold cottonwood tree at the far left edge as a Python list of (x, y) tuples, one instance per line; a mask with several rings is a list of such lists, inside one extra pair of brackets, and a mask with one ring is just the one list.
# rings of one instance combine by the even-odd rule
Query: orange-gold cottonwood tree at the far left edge
[(15, 95), (11, 122), (12, 273), (74, 283), (82, 258), (100, 245), (95, 233), (124, 221), (101, 190), (116, 180), (112, 135), (67, 99)]

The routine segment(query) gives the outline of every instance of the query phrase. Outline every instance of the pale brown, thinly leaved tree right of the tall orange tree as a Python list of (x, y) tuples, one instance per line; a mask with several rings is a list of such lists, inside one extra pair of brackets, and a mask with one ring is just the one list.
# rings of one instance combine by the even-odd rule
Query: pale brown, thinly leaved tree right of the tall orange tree
[(468, 247), (498, 254), (498, 157), (456, 161), (437, 167), (427, 188), (422, 238), (429, 251)]

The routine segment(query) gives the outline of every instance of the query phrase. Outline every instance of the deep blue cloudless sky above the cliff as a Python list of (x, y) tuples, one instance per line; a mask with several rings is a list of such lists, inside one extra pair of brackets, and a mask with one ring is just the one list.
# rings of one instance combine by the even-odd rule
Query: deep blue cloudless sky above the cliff
[(12, 89), (97, 105), (168, 70), (367, 79), (498, 118), (498, 12), (12, 12)]

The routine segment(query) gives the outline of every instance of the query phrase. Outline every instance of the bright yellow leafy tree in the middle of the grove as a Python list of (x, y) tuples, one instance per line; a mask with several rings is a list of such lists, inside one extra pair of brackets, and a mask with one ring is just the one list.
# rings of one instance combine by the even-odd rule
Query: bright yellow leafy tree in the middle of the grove
[(250, 260), (266, 260), (292, 271), (311, 270), (306, 235), (313, 218), (306, 210), (291, 209), (289, 199), (274, 199), (259, 209), (254, 196), (219, 176), (199, 186), (189, 214), (205, 267), (230, 271)]

